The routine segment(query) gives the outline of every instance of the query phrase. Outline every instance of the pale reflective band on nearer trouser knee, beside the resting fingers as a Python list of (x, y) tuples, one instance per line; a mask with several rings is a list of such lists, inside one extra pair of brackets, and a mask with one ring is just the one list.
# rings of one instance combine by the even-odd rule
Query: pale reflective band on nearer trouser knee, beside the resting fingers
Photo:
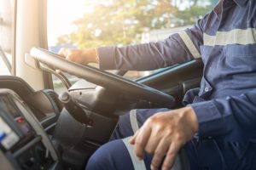
[(131, 137), (128, 137), (128, 138), (125, 138), (122, 140), (125, 143), (125, 147), (127, 148), (129, 155), (131, 156), (131, 161), (132, 161), (134, 169), (135, 170), (146, 170), (144, 161), (139, 160), (138, 157), (135, 155), (134, 146), (129, 143), (129, 139), (131, 139)]

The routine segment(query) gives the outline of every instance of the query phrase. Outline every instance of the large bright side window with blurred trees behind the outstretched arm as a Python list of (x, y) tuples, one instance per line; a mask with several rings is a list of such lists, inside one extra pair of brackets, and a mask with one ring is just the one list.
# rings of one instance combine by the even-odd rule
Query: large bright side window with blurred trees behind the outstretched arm
[[(48, 3), (49, 49), (57, 52), (61, 47), (160, 41), (192, 26), (218, 0), (51, 0)], [(125, 77), (136, 79), (154, 72), (129, 71)]]

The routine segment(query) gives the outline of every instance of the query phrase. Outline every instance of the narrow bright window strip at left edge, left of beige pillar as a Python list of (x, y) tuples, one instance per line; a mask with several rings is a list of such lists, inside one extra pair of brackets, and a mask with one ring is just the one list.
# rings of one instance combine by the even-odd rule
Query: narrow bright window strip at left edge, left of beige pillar
[(0, 75), (14, 74), (15, 0), (0, 1)]

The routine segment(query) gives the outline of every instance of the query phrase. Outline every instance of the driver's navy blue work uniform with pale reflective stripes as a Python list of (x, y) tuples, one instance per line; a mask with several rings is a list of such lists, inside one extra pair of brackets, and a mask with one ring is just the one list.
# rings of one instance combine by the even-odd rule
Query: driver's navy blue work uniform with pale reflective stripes
[[(255, 0), (222, 0), (194, 27), (162, 42), (123, 48), (104, 47), (97, 51), (102, 69), (147, 71), (202, 59), (201, 88), (189, 90), (183, 99), (183, 104), (191, 105), (195, 111), (200, 128), (186, 146), (191, 168), (256, 169)], [(143, 115), (155, 112), (158, 111), (136, 111), (135, 119), (143, 123)], [(114, 148), (119, 143), (117, 148), (123, 147), (124, 151), (126, 147), (124, 152), (131, 157), (127, 160), (139, 169), (134, 165), (136, 160), (131, 156), (130, 146), (125, 139), (119, 139), (132, 135), (132, 129), (141, 126), (140, 123), (135, 127), (132, 123), (128, 125), (133, 116), (120, 118), (119, 127), (113, 134), (113, 139), (118, 140), (102, 148)], [(129, 126), (130, 131), (127, 130)], [(102, 148), (91, 157), (88, 169), (96, 169), (92, 167), (96, 160), (101, 162)], [(105, 166), (119, 156), (113, 152), (109, 157)], [(107, 160), (106, 157), (104, 159)], [(124, 162), (124, 157), (119, 159)], [(142, 168), (148, 168), (150, 156), (147, 159)]]

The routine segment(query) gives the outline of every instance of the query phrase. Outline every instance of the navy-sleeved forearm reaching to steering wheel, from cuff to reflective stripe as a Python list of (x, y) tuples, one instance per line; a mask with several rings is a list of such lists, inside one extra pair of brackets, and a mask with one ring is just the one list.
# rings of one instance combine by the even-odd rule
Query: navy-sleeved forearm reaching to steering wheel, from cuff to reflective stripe
[(105, 70), (150, 71), (193, 59), (178, 34), (162, 42), (97, 48), (97, 52)]

